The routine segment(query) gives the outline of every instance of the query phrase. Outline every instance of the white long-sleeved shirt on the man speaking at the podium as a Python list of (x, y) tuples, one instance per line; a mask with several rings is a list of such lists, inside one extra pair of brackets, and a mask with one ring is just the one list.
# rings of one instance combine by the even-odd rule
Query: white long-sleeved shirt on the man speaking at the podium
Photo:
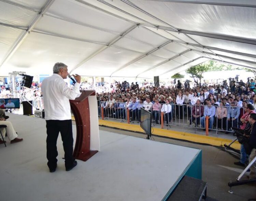
[(69, 120), (71, 109), (69, 99), (79, 96), (80, 83), (71, 90), (63, 78), (54, 73), (43, 80), (41, 90), (44, 100), (45, 120)]

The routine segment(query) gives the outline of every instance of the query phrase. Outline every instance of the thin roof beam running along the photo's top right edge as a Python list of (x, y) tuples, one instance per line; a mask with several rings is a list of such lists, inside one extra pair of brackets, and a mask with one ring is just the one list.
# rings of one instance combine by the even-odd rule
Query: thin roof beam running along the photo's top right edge
[[(163, 1), (163, 2), (173, 2), (173, 3), (192, 3), (192, 4), (205, 4), (205, 5), (220, 5), (220, 6), (233, 6), (233, 7), (249, 7), (255, 8), (256, 5), (252, 4), (242, 4), (242, 3), (222, 3), (220, 2), (209, 2), (209, 1), (193, 1), (193, 0), (144, 0), (144, 1)], [(242, 2), (242, 1), (241, 1)]]

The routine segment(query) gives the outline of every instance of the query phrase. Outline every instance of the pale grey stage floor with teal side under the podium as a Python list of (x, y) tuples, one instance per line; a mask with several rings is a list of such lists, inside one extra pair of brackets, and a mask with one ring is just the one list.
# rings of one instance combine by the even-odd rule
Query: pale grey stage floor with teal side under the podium
[[(201, 150), (101, 130), (101, 151), (70, 172), (59, 136), (58, 167), (50, 173), (45, 120), (9, 115), (24, 141), (0, 144), (1, 201), (157, 201), (166, 200), (183, 175), (201, 179)], [(73, 125), (74, 139), (75, 133)]]

